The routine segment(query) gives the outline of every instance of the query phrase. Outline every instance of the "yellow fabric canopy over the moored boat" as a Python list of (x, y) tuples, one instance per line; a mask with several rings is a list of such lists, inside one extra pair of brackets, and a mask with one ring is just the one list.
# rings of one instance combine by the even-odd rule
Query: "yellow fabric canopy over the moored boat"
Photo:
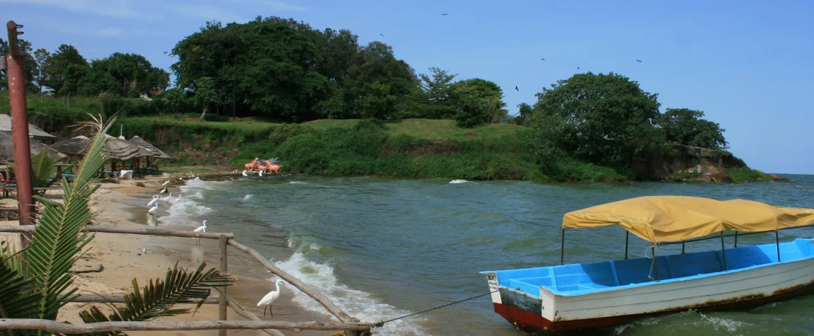
[(731, 199), (645, 196), (568, 212), (563, 228), (620, 225), (646, 241), (681, 242), (724, 230), (773, 231), (814, 223), (814, 209)]

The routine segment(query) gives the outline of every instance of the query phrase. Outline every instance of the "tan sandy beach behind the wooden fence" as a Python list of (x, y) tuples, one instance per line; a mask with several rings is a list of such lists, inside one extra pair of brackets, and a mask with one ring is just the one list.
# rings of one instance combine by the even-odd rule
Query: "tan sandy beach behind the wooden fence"
[[(187, 174), (183, 174), (187, 177)], [(147, 203), (153, 194), (161, 190), (164, 181), (173, 181), (168, 191), (178, 193), (177, 187), (182, 185), (176, 175), (152, 176), (145, 178), (119, 180), (117, 183), (101, 183), (101, 187), (90, 199), (90, 209), (94, 213), (94, 220), (99, 225), (116, 227), (144, 227), (149, 225)], [(59, 190), (49, 190), (47, 197), (59, 199)], [(0, 208), (16, 208), (16, 200), (2, 199)], [(135, 204), (143, 204), (138, 206)], [(160, 209), (159, 216), (162, 211)], [(17, 225), (16, 220), (0, 221), (0, 224)], [(160, 223), (162, 228), (188, 230), (190, 226), (177, 226), (171, 223)], [(0, 233), (3, 234), (3, 233)], [(14, 234), (5, 234), (2, 238), (15, 238)], [(240, 242), (239, 233), (235, 233), (235, 240)], [(218, 249), (217, 240), (201, 239), (199, 246), (194, 238), (155, 237), (136, 234), (95, 233), (94, 239), (85, 247), (84, 255), (77, 261), (73, 270), (88, 271), (99, 268), (98, 273), (79, 273), (76, 275), (76, 284), (79, 294), (126, 294), (132, 290), (133, 279), (138, 280), (138, 286), (143, 287), (150, 279), (164, 278), (168, 268), (174, 264), (194, 270), (200, 262), (206, 262), (208, 268), (217, 267)], [(144, 253), (142, 249), (146, 249)], [(274, 255), (264, 255), (273, 258)], [(229, 273), (234, 277), (234, 286), (230, 286), (229, 295), (243, 308), (263, 316), (263, 308), (256, 307), (257, 301), (269, 290), (274, 289), (274, 276), (265, 270), (255, 260), (242, 252), (230, 248)], [(272, 278), (272, 281), (267, 279)], [(297, 290), (294, 286), (284, 286), (282, 296), (274, 303), (274, 316), (267, 319), (279, 321), (331, 321), (330, 316), (316, 312), (305, 311), (291, 302), (292, 292)], [(212, 290), (212, 296), (217, 292)], [(81, 323), (78, 313), (88, 309), (90, 305), (102, 307), (102, 303), (70, 303), (60, 313), (59, 321)], [(193, 308), (194, 305), (182, 305), (182, 308)], [(229, 311), (229, 320), (245, 320), (237, 313)], [(195, 313), (181, 316), (161, 318), (159, 321), (209, 321), (217, 320), (217, 304), (204, 304)], [(335, 319), (333, 319), (335, 321)], [(287, 331), (284, 334), (297, 335), (328, 335), (334, 334), (326, 331)], [(160, 334), (160, 335), (217, 335), (217, 330), (201, 331), (167, 331), (167, 332), (129, 332), (128, 334)], [(230, 330), (229, 334), (254, 335), (265, 334), (260, 330)]]

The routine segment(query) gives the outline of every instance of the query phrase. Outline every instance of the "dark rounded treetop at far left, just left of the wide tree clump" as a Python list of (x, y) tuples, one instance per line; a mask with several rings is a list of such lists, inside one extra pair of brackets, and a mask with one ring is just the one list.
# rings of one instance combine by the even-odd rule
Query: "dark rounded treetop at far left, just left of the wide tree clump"
[(45, 62), (45, 86), (54, 89), (56, 94), (77, 94), (85, 84), (85, 76), (90, 72), (90, 64), (79, 54), (76, 47), (60, 45)]

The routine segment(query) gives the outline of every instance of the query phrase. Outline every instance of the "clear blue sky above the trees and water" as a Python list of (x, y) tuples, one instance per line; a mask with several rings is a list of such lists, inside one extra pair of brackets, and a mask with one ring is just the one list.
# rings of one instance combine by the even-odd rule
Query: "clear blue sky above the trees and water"
[(5, 20), (25, 25), (23, 38), (35, 48), (67, 43), (88, 59), (138, 53), (167, 69), (174, 59), (164, 51), (207, 20), (276, 15), (347, 28), (361, 43), (393, 46), (416, 72), (439, 67), (459, 79), (496, 82), (511, 113), (575, 73), (616, 72), (658, 93), (662, 111), (704, 111), (752, 168), (814, 174), (812, 1), (0, 0), (0, 6)]

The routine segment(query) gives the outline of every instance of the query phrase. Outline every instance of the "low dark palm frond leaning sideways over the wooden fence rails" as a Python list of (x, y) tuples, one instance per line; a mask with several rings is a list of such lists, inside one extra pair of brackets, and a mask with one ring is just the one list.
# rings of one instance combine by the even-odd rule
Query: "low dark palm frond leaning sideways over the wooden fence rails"
[(188, 309), (173, 309), (180, 300), (200, 299), (195, 310), (209, 296), (212, 286), (229, 286), (230, 279), (216, 268), (204, 272), (206, 263), (200, 264), (194, 273), (183, 268), (167, 271), (164, 280), (151, 280), (143, 289), (138, 288), (138, 281), (133, 279), (133, 293), (125, 295), (125, 306), (117, 307), (112, 314), (104, 316), (98, 308), (90, 308), (80, 313), (85, 323), (106, 321), (147, 321), (158, 316), (172, 316), (186, 313)]

